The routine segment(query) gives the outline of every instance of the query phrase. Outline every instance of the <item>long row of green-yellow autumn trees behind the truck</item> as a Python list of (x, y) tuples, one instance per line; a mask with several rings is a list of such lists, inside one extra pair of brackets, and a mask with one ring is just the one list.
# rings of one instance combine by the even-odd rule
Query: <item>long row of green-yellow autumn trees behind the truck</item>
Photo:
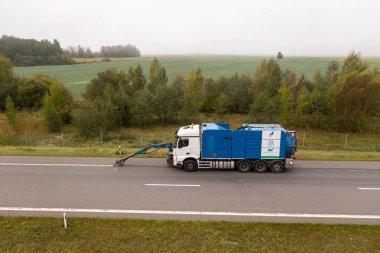
[(355, 52), (341, 65), (332, 61), (326, 72), (315, 71), (311, 80), (266, 59), (254, 76), (213, 79), (199, 68), (169, 82), (155, 58), (147, 76), (140, 65), (127, 72), (110, 68), (98, 73), (75, 106), (55, 79), (15, 78), (4, 57), (0, 66), (7, 73), (0, 79), (0, 109), (6, 109), (9, 97), (16, 108), (42, 108), (48, 126), (55, 126), (51, 130), (74, 122), (86, 136), (127, 126), (188, 124), (198, 122), (200, 115), (223, 120), (231, 113), (245, 114), (251, 123), (353, 132), (370, 131), (380, 118), (380, 73)]

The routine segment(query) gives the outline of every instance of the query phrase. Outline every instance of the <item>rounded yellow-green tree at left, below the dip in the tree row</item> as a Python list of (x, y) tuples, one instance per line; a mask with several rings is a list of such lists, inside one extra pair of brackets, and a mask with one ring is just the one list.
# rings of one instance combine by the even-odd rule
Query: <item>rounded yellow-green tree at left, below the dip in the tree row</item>
[(61, 130), (63, 124), (72, 120), (73, 97), (70, 91), (56, 81), (49, 88), (43, 101), (43, 112), (47, 127), (52, 132)]

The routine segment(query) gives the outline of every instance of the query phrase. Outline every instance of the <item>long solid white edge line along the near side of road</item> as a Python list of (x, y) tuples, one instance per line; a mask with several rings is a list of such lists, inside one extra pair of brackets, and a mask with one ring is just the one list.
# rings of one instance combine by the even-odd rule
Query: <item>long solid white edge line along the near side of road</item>
[(165, 211), (165, 210), (124, 210), (124, 209), (81, 209), (81, 208), (32, 208), (0, 207), (8, 212), (67, 212), (67, 213), (111, 213), (111, 214), (164, 214), (164, 215), (205, 215), (205, 216), (249, 216), (280, 218), (329, 218), (329, 219), (380, 219), (380, 215), (358, 214), (312, 214), (312, 213), (249, 213), (210, 211)]

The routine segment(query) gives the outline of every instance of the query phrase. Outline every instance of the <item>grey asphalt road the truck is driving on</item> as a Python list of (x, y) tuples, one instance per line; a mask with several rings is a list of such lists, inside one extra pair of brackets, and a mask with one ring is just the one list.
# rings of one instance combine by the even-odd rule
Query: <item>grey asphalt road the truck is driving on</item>
[(297, 161), (282, 174), (113, 162), (0, 156), (0, 215), (380, 224), (380, 162)]

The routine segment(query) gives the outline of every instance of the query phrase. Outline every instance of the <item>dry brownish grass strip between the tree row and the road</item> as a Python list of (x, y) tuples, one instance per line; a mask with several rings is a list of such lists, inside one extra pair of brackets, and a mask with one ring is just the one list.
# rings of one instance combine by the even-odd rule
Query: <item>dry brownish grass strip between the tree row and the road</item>
[[(218, 121), (218, 117), (202, 121)], [(233, 128), (250, 122), (245, 115), (225, 117)], [(22, 127), (20, 127), (22, 126)], [(106, 156), (131, 154), (150, 143), (174, 141), (178, 125), (127, 127), (93, 137), (78, 134), (74, 125), (65, 125), (61, 132), (52, 133), (44, 123), (41, 112), (18, 112), (15, 128), (7, 116), (0, 114), (0, 154), (47, 156)], [(298, 130), (297, 159), (300, 160), (377, 160), (380, 161), (379, 133), (339, 133), (320, 130)], [(346, 142), (347, 138), (347, 142)], [(166, 150), (139, 157), (165, 157)]]

